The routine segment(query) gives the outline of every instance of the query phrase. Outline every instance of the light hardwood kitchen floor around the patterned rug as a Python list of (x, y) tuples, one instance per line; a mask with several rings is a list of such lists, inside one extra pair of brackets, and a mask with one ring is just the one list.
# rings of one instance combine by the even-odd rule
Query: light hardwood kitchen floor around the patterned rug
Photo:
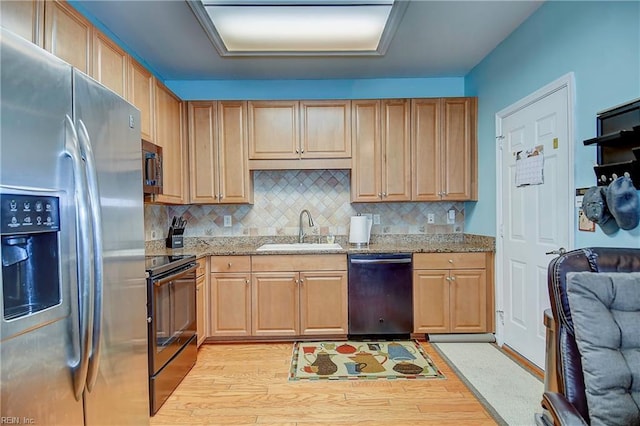
[(495, 425), (422, 346), (446, 379), (290, 382), (292, 343), (203, 345), (151, 425)]

